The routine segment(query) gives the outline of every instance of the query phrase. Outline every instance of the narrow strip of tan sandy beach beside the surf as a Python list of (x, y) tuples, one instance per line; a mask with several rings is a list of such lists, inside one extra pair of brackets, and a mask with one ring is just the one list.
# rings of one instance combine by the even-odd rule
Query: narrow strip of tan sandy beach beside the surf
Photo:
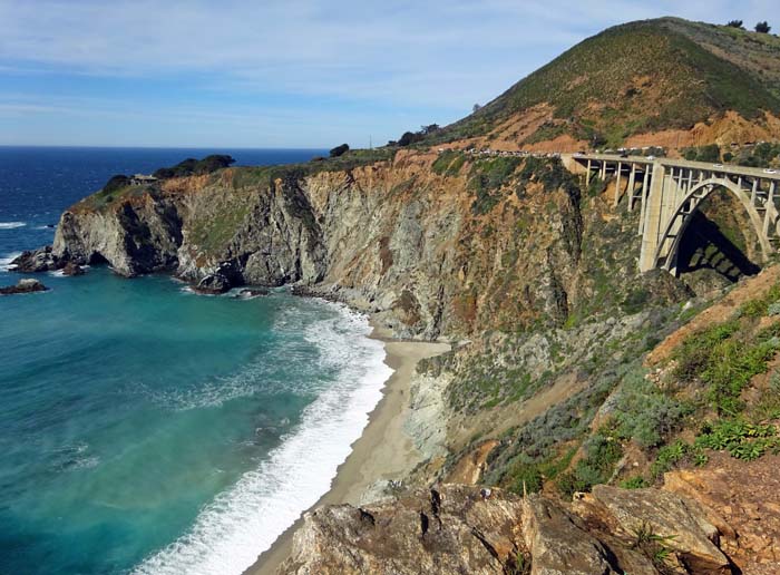
[[(359, 505), (365, 489), (381, 479), (397, 479), (411, 471), (422, 456), (403, 430), (409, 410), (411, 377), (425, 358), (445, 353), (449, 343), (393, 340), (371, 320), (369, 335), (384, 343), (384, 363), (393, 372), (384, 382), (382, 398), (369, 413), (369, 422), (352, 450), (337, 469), (330, 489), (309, 509), (323, 505)], [(273, 575), (290, 556), (292, 539), (303, 524), (303, 514), (282, 533), (273, 545), (244, 571), (244, 575)]]

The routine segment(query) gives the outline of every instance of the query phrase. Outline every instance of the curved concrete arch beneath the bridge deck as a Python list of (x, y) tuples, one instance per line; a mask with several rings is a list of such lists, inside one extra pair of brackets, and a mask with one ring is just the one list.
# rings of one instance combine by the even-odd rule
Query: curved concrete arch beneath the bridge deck
[[(692, 186), (683, 199), (674, 207), (674, 212), (669, 217), (664, 226), (661, 241), (655, 252), (655, 266), (663, 267), (671, 272), (676, 272), (677, 255), (680, 253), (681, 238), (685, 234), (689, 225), (693, 221), (693, 214), (699, 209), (700, 204), (706, 199), (715, 189), (724, 188), (732, 193), (742, 207), (748, 213), (750, 222), (755, 230), (755, 235), (761, 245), (761, 255), (766, 262), (772, 253), (772, 245), (769, 241), (769, 230), (764, 228), (764, 220), (759, 214), (759, 209), (753, 203), (753, 198), (742, 189), (737, 183), (724, 177), (710, 177)], [(774, 205), (766, 202), (763, 209), (772, 209), (777, 213)], [(777, 220), (777, 218), (774, 218)]]

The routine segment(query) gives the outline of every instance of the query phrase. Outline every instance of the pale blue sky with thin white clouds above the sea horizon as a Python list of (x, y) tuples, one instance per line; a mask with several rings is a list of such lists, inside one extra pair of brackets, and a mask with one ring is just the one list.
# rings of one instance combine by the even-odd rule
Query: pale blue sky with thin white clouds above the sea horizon
[(0, 0), (0, 145), (368, 147), (468, 115), (578, 41), (777, 0)]

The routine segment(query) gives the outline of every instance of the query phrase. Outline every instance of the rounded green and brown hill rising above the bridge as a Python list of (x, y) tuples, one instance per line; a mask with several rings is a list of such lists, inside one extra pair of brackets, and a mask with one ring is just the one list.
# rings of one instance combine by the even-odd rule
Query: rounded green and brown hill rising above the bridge
[(568, 135), (617, 144), (636, 134), (690, 129), (728, 110), (749, 120), (764, 110), (780, 115), (780, 38), (662, 18), (586, 39), (436, 140), (533, 144)]

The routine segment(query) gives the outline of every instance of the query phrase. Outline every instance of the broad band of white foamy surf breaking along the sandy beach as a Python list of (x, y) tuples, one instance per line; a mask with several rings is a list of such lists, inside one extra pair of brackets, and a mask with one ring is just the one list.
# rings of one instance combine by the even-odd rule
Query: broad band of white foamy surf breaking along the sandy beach
[(302, 423), (269, 459), (218, 495), (192, 529), (135, 568), (136, 574), (238, 575), (279, 535), (328, 491), (337, 468), (361, 435), (382, 397), (391, 370), (381, 342), (364, 318), (342, 310), (315, 322), (322, 355), (332, 355), (340, 377), (303, 412)]

